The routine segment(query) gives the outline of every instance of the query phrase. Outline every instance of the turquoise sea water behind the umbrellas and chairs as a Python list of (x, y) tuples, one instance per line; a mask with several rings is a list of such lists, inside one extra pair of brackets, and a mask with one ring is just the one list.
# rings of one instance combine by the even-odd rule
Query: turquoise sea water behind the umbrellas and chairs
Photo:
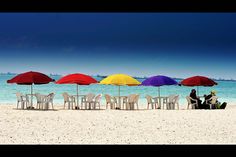
[[(23, 94), (30, 93), (30, 86), (27, 85), (16, 85), (7, 84), (6, 81), (11, 79), (14, 75), (0, 75), (0, 104), (16, 103), (16, 92), (21, 92)], [(60, 76), (55, 76), (55, 80), (58, 80)], [(96, 78), (101, 80), (101, 78)], [(139, 80), (142, 82), (143, 80)], [(180, 81), (180, 80), (176, 80)], [(236, 82), (234, 81), (217, 81), (218, 85), (214, 87), (199, 87), (200, 95), (208, 94), (211, 90), (217, 91), (217, 96), (219, 101), (223, 102), (236, 102)], [(180, 105), (186, 105), (187, 102), (185, 97), (189, 95), (192, 88), (196, 87), (186, 87), (186, 86), (162, 86), (161, 95), (168, 96), (170, 94), (180, 95)], [(58, 85), (54, 83), (49, 83), (45, 85), (34, 85), (34, 92), (41, 94), (49, 94), (51, 92), (56, 93), (54, 102), (56, 104), (63, 104), (63, 92), (68, 92), (69, 94), (76, 94), (76, 85)], [(140, 94), (140, 105), (146, 105), (145, 95), (149, 94), (152, 96), (158, 95), (157, 87), (145, 87), (145, 86), (121, 86), (121, 95), (129, 95), (133, 93)], [(110, 94), (118, 95), (118, 87), (112, 85), (89, 85), (89, 86), (79, 86), (79, 94), (87, 94), (89, 92), (95, 94)], [(105, 103), (105, 98), (103, 97), (102, 103)], [(230, 103), (228, 103), (230, 105)]]

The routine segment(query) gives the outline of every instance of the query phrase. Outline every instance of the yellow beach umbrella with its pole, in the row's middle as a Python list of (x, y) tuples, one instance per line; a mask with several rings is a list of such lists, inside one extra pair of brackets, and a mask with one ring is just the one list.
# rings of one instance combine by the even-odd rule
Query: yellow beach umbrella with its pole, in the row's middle
[(137, 86), (140, 84), (140, 82), (136, 80), (135, 78), (126, 74), (113, 74), (113, 75), (107, 76), (102, 81), (100, 81), (100, 84), (118, 86), (118, 96), (119, 96), (119, 106), (120, 106), (120, 86), (124, 86), (124, 85)]

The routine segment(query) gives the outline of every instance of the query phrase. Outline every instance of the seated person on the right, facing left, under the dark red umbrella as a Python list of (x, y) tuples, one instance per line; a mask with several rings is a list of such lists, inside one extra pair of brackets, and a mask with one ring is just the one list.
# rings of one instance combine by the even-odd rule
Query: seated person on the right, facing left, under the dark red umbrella
[[(205, 101), (203, 103), (203, 106), (204, 106), (205, 109), (210, 109), (209, 102), (211, 101), (213, 96), (216, 96), (216, 91), (211, 91), (211, 93), (207, 96), (204, 95)], [(226, 102), (221, 104), (218, 100), (216, 100), (216, 103), (212, 104), (212, 109), (225, 109), (226, 105), (227, 105)]]

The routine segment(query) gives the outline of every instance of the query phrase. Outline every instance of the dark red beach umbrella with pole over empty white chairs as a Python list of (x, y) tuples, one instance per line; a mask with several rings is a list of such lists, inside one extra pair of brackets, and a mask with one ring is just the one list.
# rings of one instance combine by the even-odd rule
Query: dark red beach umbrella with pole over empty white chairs
[(55, 81), (49, 76), (35, 71), (29, 71), (21, 73), (10, 80), (7, 80), (7, 83), (16, 83), (18, 85), (31, 85), (31, 108), (33, 103), (33, 84), (48, 84), (49, 82)]

